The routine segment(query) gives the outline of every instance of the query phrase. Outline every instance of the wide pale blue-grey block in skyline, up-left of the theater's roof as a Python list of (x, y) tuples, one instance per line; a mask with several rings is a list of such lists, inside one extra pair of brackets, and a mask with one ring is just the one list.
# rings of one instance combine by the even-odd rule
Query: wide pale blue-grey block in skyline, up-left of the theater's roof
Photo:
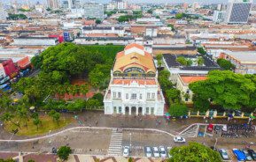
[(84, 4), (85, 18), (99, 18), (104, 19), (104, 5), (103, 4)]

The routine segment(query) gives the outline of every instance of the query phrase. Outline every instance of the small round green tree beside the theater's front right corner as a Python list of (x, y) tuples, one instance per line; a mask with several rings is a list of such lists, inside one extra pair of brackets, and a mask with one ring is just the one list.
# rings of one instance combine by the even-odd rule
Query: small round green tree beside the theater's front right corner
[(188, 114), (188, 107), (184, 104), (171, 104), (169, 107), (169, 114), (171, 116), (179, 117)]

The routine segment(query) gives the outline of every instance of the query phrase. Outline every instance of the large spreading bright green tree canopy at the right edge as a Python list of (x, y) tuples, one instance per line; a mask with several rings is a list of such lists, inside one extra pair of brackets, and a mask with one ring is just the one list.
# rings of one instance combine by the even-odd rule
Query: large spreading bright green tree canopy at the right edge
[[(209, 101), (225, 109), (256, 107), (256, 76), (236, 74), (229, 70), (213, 70), (208, 79), (189, 85), (196, 107), (206, 108)], [(204, 104), (205, 103), (205, 104)]]

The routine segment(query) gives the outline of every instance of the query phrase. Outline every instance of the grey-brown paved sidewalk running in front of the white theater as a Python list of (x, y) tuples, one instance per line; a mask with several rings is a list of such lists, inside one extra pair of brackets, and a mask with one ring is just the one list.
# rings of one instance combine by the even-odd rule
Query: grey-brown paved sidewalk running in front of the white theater
[[(107, 128), (134, 128), (134, 129), (159, 129), (177, 135), (183, 129), (193, 123), (206, 123), (203, 118), (176, 119), (169, 121), (164, 117), (157, 116), (126, 116), (126, 115), (105, 115), (103, 111), (84, 111), (80, 114), (62, 114), (66, 117), (77, 116), (76, 122), (65, 128), (51, 131), (51, 134), (64, 129), (86, 126), (86, 127), (107, 127)], [(227, 123), (227, 119), (207, 119), (207, 123)], [(247, 122), (247, 120), (237, 120), (237, 122)], [(49, 134), (48, 134), (49, 135)], [(0, 139), (10, 139), (11, 133), (0, 132)], [(45, 136), (45, 135), (41, 135)], [(32, 136), (13, 136), (12, 139), (27, 139)], [(38, 136), (33, 136), (38, 137)]]

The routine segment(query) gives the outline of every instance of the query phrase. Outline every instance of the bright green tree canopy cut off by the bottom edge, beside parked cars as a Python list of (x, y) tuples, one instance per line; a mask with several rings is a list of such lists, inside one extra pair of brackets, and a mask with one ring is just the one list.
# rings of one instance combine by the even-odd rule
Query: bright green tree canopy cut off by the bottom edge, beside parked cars
[(172, 158), (169, 162), (221, 162), (220, 153), (213, 151), (203, 144), (190, 143), (189, 145), (176, 146), (171, 151)]

